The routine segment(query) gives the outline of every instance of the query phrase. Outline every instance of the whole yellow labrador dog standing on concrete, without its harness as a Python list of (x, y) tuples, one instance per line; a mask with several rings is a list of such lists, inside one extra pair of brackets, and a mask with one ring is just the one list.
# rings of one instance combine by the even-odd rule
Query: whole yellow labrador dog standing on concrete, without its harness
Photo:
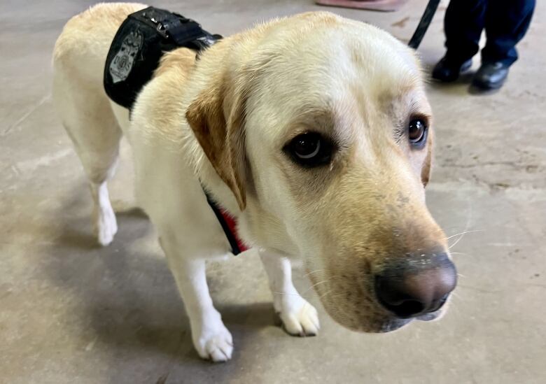
[[(425, 205), (433, 130), (414, 52), (331, 13), (273, 20), (195, 59), (167, 53), (129, 115), (104, 92), (106, 55), (135, 3), (73, 17), (54, 52), (54, 97), (90, 180), (99, 243), (116, 234), (106, 183), (122, 134), (199, 355), (232, 356), (205, 260), (230, 245), (203, 188), (258, 248), (287, 332), (317, 312), (291, 281), (302, 257), (325, 310), (360, 332), (433, 320), (456, 285), (444, 232)], [(130, 117), (130, 118), (129, 118)]]

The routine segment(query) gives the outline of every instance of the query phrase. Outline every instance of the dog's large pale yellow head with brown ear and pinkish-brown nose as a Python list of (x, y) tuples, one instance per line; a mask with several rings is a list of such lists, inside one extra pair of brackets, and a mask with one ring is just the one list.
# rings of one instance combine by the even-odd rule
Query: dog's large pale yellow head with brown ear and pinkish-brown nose
[(425, 205), (433, 131), (414, 52), (330, 13), (258, 35), (186, 113), (253, 236), (303, 255), (346, 327), (437, 318), (456, 271)]

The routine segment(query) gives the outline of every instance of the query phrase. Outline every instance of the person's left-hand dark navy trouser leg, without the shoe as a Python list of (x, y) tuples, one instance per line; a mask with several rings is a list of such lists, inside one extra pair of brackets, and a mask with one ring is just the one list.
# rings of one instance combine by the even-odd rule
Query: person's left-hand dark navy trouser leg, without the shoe
[(446, 57), (465, 62), (479, 50), (485, 25), (487, 0), (451, 0), (444, 17)]

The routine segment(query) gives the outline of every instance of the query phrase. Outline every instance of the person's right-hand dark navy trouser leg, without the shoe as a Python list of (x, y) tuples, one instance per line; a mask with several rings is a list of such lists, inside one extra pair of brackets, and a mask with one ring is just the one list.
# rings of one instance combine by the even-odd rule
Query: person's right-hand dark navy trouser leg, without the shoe
[(502, 62), (510, 66), (517, 60), (516, 44), (525, 35), (535, 0), (491, 1), (486, 11), (487, 42), (482, 62)]

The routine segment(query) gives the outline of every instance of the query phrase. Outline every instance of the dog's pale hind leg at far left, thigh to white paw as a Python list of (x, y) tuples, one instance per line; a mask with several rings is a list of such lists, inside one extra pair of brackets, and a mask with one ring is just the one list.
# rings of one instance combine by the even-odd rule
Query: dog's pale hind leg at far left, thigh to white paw
[(70, 71), (55, 68), (53, 97), (90, 183), (94, 234), (107, 246), (118, 225), (106, 183), (116, 169), (122, 131), (104, 90), (80, 82)]

